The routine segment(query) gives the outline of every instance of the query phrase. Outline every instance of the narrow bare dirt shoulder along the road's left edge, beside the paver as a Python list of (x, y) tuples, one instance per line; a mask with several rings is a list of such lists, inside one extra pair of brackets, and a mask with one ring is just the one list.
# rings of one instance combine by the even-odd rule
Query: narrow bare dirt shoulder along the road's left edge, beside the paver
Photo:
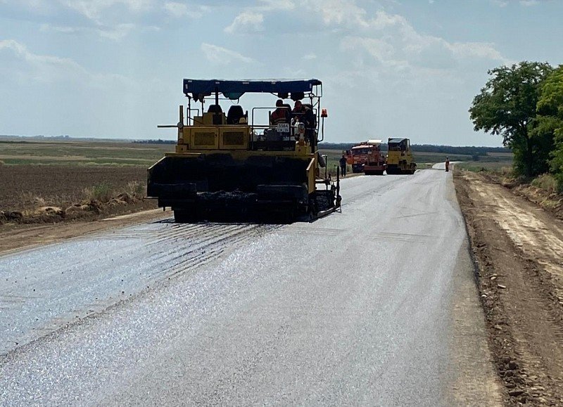
[(5, 224), (0, 229), (0, 254), (171, 216), (172, 212), (170, 211), (163, 212), (162, 209), (150, 209), (96, 221), (72, 221), (59, 224)]

